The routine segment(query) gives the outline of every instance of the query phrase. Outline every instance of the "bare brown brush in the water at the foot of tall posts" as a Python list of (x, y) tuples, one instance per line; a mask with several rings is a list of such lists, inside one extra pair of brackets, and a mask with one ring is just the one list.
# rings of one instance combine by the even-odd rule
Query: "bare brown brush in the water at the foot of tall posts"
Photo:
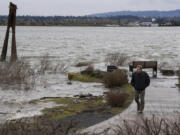
[(35, 70), (24, 60), (1, 62), (0, 84), (24, 85), (25, 89), (34, 87)]

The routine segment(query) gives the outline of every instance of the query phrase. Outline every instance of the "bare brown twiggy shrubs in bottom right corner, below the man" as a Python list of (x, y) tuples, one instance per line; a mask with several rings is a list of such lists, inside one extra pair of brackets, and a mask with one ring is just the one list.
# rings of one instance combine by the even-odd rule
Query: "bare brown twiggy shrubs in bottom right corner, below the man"
[(114, 131), (119, 135), (179, 135), (180, 116), (167, 119), (153, 115), (150, 118), (142, 117), (138, 121), (124, 120)]

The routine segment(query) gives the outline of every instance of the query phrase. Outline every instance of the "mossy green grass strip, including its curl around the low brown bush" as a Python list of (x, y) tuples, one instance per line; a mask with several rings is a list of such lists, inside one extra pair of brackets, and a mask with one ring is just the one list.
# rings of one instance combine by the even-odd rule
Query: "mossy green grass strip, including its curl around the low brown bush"
[[(39, 100), (33, 100), (31, 103), (38, 102), (55, 102), (62, 106), (56, 106), (53, 108), (45, 108), (42, 110), (43, 116), (50, 119), (62, 119), (68, 116), (77, 115), (83, 111), (90, 111), (91, 113), (102, 113), (98, 108), (106, 108), (106, 112), (110, 112), (114, 115), (121, 113), (132, 103), (134, 99), (134, 90), (130, 84), (126, 84), (120, 88), (125, 88), (125, 92), (130, 96), (123, 107), (108, 107), (108, 103), (103, 97), (92, 97), (90, 99), (84, 98), (69, 98), (69, 97), (56, 97), (56, 98), (42, 98)], [(108, 107), (108, 109), (107, 109)]]

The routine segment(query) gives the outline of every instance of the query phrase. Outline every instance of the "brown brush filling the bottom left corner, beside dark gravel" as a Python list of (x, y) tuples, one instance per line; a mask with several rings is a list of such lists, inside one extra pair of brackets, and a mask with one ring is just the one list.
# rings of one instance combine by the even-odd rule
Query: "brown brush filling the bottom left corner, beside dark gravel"
[(68, 135), (76, 123), (33, 117), (7, 121), (0, 127), (1, 135)]

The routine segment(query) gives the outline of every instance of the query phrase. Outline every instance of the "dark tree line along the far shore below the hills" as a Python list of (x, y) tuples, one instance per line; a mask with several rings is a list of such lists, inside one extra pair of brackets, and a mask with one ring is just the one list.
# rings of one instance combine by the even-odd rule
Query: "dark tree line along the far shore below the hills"
[[(8, 16), (0, 16), (0, 25), (7, 25)], [(128, 26), (135, 22), (151, 22), (152, 18), (137, 16), (17, 16), (18, 26)], [(156, 18), (159, 26), (180, 26), (180, 18)]]

